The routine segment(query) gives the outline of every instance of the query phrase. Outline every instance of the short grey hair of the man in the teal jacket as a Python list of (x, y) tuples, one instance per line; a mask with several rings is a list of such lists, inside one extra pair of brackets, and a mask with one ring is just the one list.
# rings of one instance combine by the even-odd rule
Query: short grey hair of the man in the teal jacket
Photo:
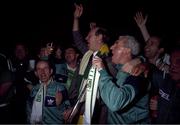
[(126, 39), (125, 47), (131, 49), (131, 54), (137, 56), (140, 53), (140, 44), (133, 36), (119, 36), (119, 40)]

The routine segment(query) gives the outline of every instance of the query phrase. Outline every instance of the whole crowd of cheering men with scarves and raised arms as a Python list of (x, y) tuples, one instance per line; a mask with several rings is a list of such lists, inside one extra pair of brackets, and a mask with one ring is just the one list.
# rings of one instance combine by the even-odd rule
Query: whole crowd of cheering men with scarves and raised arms
[(107, 29), (95, 22), (83, 38), (83, 6), (74, 6), (73, 45), (47, 43), (35, 58), (23, 43), (12, 57), (0, 53), (0, 123), (180, 123), (179, 41), (166, 53), (141, 12), (134, 20), (143, 49), (129, 34), (108, 46)]

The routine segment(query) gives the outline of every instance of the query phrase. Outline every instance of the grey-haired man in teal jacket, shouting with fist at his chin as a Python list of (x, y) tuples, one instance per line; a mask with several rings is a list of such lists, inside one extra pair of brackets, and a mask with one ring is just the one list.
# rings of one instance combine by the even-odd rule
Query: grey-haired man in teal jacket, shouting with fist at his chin
[(93, 66), (99, 69), (100, 96), (108, 107), (108, 124), (149, 123), (149, 82), (144, 75), (132, 76), (123, 66), (138, 56), (139, 43), (132, 36), (120, 36), (112, 45), (112, 62), (118, 65), (116, 82), (107, 73), (102, 59), (96, 57)]

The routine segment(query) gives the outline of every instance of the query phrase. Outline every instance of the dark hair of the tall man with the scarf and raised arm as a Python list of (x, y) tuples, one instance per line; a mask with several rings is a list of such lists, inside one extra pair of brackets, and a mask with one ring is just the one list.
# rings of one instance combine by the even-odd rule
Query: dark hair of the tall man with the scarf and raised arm
[(102, 35), (103, 36), (102, 40), (104, 43), (107, 43), (110, 40), (109, 33), (108, 33), (107, 29), (105, 29), (105, 28), (97, 27), (97, 31), (96, 31), (95, 35), (96, 36)]

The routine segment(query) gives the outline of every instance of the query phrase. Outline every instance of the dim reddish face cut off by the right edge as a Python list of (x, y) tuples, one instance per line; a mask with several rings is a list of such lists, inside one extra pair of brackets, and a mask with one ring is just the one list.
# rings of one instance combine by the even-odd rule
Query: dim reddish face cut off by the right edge
[(173, 80), (180, 80), (180, 50), (171, 54), (170, 76)]

